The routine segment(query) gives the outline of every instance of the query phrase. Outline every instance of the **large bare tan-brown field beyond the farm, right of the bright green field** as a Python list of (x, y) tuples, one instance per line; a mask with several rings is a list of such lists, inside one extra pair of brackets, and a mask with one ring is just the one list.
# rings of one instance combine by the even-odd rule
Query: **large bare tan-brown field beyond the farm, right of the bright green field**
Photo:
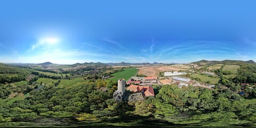
[(164, 71), (179, 71), (179, 70), (189, 70), (189, 66), (185, 65), (171, 65), (171, 66), (161, 66), (161, 67), (148, 67), (148, 68), (139, 68), (139, 74), (146, 76), (156, 76), (158, 77), (160, 72)]

